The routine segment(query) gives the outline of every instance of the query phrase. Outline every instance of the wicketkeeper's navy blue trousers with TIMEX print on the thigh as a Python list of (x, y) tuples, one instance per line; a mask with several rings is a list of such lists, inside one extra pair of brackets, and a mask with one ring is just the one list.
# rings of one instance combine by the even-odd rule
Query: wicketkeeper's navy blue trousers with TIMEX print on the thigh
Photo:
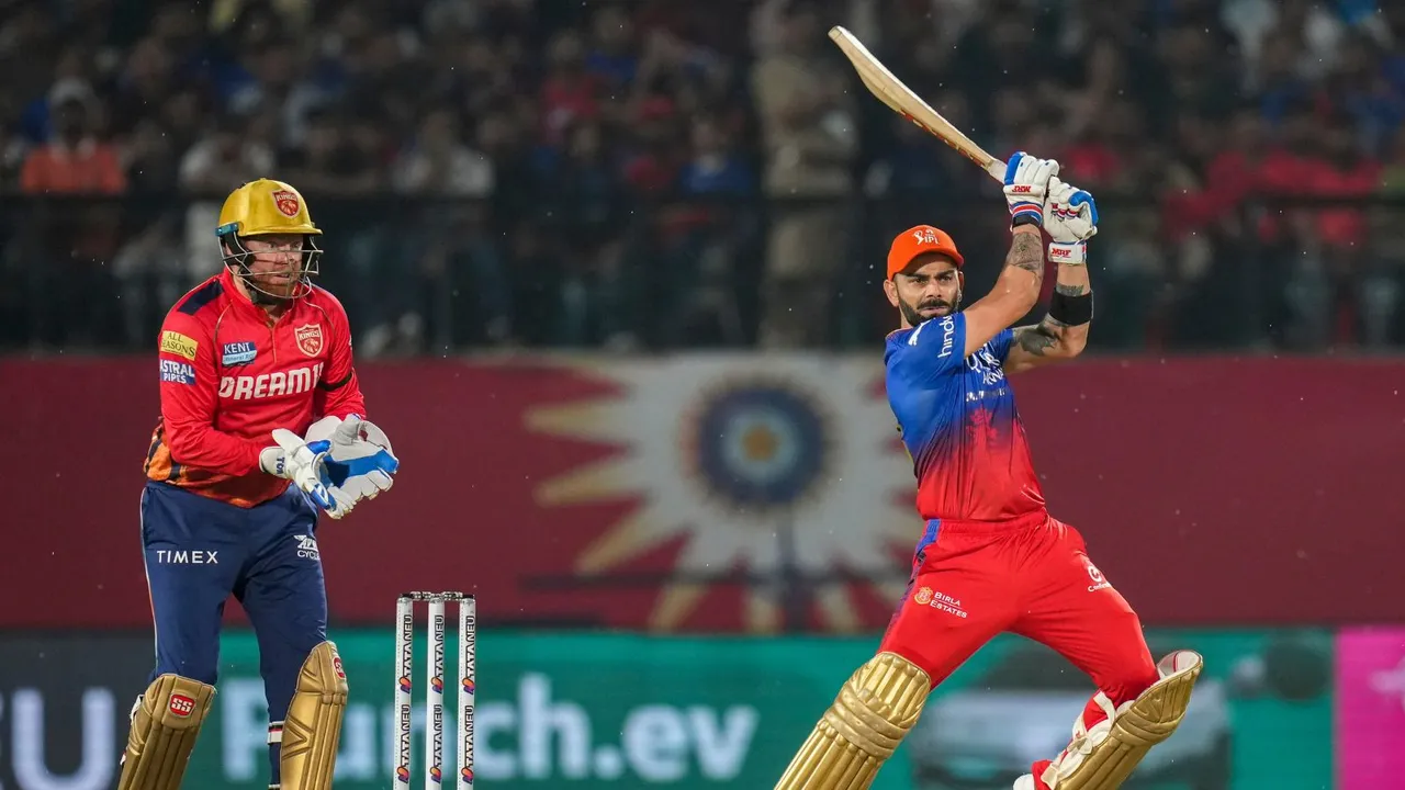
[[(233, 595), (259, 638), (270, 728), (281, 731), (302, 662), (327, 638), (316, 526), (315, 506), (292, 486), (263, 505), (236, 507), (148, 482), (142, 547), (156, 624), (148, 682), (170, 672), (215, 685), (225, 602)], [(277, 784), (278, 745), (268, 752)]]

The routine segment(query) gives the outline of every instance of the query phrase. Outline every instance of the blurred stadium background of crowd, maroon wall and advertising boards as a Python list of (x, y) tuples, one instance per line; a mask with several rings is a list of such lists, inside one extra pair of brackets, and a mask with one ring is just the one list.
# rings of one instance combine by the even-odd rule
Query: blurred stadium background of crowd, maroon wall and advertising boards
[[(1090, 349), (1014, 387), (1052, 512), (1208, 662), (1138, 784), (1401, 786), (1405, 3), (0, 0), (0, 787), (115, 783), (156, 329), (260, 176), (403, 462), (318, 536), (337, 787), (389, 786), (403, 589), (479, 596), (481, 786), (771, 786), (920, 530), (887, 245), (946, 228), (974, 298), (1007, 243), (833, 24), (1097, 195)], [(187, 786), (266, 782), (244, 623)], [(1090, 692), (1002, 637), (877, 787), (1007, 787)]]

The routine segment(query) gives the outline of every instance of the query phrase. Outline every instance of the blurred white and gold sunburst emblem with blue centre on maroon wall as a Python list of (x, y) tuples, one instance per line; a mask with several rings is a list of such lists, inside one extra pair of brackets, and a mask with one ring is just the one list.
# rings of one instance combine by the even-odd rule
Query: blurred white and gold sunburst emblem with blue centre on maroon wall
[[(611, 394), (525, 416), (534, 433), (614, 450), (534, 492), (552, 509), (631, 503), (576, 558), (577, 574), (628, 572), (642, 561), (688, 578), (659, 585), (653, 630), (681, 628), (700, 607), (735, 606), (742, 630), (777, 631), (784, 585), (749, 585), (738, 596), (735, 579), (718, 576), (739, 569), (836, 578), (812, 588), (812, 610), (833, 631), (888, 619), (908, 583), (896, 557), (912, 551), (922, 524), (881, 361), (680, 354), (583, 363), (580, 373), (604, 378)], [(874, 600), (881, 610), (867, 606)]]

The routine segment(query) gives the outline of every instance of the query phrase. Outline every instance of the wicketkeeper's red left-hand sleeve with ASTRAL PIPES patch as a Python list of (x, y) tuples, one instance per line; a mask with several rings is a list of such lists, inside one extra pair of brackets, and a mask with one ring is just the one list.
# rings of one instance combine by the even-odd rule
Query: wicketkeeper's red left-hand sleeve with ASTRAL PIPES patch
[(219, 381), (214, 340), (201, 322), (171, 311), (162, 323), (157, 357), (162, 426), (171, 460), (228, 475), (256, 471), (266, 446), (215, 430)]

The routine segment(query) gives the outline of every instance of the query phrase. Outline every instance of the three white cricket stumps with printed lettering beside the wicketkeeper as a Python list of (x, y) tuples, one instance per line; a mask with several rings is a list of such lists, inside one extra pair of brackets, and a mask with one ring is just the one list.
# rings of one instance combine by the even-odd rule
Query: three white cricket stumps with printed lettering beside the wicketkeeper
[(414, 603), (429, 603), (424, 690), (424, 790), (444, 780), (444, 604), (458, 604), (458, 790), (473, 787), (473, 693), (476, 690), (478, 600), (461, 592), (407, 592), (395, 603), (395, 790), (410, 789), (410, 687)]

